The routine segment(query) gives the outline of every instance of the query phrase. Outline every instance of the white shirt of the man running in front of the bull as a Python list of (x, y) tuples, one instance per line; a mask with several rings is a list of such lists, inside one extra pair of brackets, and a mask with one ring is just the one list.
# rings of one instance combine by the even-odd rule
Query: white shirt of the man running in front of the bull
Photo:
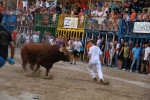
[(99, 56), (102, 54), (102, 51), (100, 50), (99, 47), (97, 46), (92, 46), (90, 47), (90, 50), (88, 52), (89, 54), (91, 54), (90, 60), (89, 61), (95, 61), (95, 60), (99, 60)]

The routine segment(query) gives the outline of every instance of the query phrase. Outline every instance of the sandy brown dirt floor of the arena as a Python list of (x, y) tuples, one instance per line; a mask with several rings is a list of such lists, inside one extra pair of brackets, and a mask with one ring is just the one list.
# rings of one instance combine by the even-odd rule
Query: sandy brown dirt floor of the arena
[(94, 82), (82, 62), (58, 62), (50, 71), (53, 78), (43, 79), (43, 67), (39, 76), (25, 76), (19, 50), (15, 61), (15, 65), (7, 63), (0, 69), (0, 100), (150, 100), (148, 75), (102, 67), (110, 82), (106, 86)]

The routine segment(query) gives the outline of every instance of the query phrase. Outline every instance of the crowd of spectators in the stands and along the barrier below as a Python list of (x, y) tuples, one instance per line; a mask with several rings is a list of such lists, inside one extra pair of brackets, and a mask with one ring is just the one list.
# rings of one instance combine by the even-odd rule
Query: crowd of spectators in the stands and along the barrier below
[[(11, 14), (14, 15), (20, 14), (20, 17), (18, 18), (22, 18), (25, 15), (29, 17), (30, 15), (30, 17), (33, 16), (31, 17), (31, 19), (34, 18), (36, 14), (87, 15), (89, 17), (88, 28), (95, 28), (94, 24), (96, 23), (98, 24), (96, 26), (98, 26), (97, 29), (99, 30), (111, 30), (111, 28), (113, 28), (113, 30), (118, 30), (119, 21), (124, 20), (125, 27), (127, 29), (126, 31), (130, 33), (135, 21), (149, 21), (149, 15), (146, 13), (146, 11), (141, 9), (144, 6), (140, 6), (138, 8), (136, 5), (137, 2), (135, 1), (129, 1), (126, 4), (119, 4), (117, 2), (105, 2), (102, 4), (100, 2), (96, 2), (91, 4), (91, 7), (88, 7), (87, 3), (85, 2), (77, 2), (74, 6), (72, 6), (70, 1), (66, 1), (64, 3), (62, 2), (56, 7), (50, 7), (47, 1), (44, 3), (41, 0), (36, 4), (32, 3), (31, 6), (23, 6), (18, 10), (7, 11), (7, 9), (4, 9), (3, 13), (5, 13), (6, 15), (8, 14), (7, 12), (11, 12)], [(13, 37), (13, 39), (16, 40), (15, 43), (17, 43), (17, 46), (19, 46), (20, 49), (24, 45), (27, 45), (29, 43), (48, 43), (51, 45), (57, 44), (65, 47), (68, 46), (69, 48), (71, 48), (70, 51), (74, 51), (72, 49), (72, 47), (75, 45), (73, 45), (74, 41), (76, 41), (77, 44), (79, 41), (81, 42), (79, 44), (84, 44), (83, 41), (81, 41), (81, 39), (79, 40), (73, 37), (53, 37), (50, 33), (41, 34), (40, 32), (36, 31), (25, 32), (22, 30), (17, 30), (16, 34), (15, 30), (13, 32)], [(99, 46), (101, 51), (103, 52), (104, 61), (107, 66), (114, 66), (117, 69), (129, 70), (130, 72), (132, 72), (134, 71), (133, 66), (136, 62), (135, 71), (140, 73), (150, 73), (150, 67), (148, 66), (149, 62), (146, 57), (149, 54), (149, 49), (148, 51), (145, 50), (145, 48), (149, 47), (148, 43), (143, 44), (143, 48), (141, 49), (139, 48), (139, 44), (135, 44), (134, 46), (132, 40), (130, 40), (128, 44), (124, 42), (123, 39), (121, 39), (121, 43), (119, 43), (117, 40), (114, 41), (113, 39), (105, 39), (104, 37), (98, 37), (97, 46)], [(77, 48), (78, 52), (76, 52), (75, 56), (79, 57), (79, 52), (82, 52), (81, 54), (83, 55), (83, 47), (84, 46), (82, 45)], [(90, 47), (87, 44), (86, 52), (88, 52), (89, 48)], [(144, 51), (146, 51), (145, 54)], [(140, 59), (142, 60), (142, 62), (140, 61)], [(76, 60), (77, 59), (75, 59), (74, 64), (76, 64)], [(140, 63), (142, 64), (140, 65)], [(72, 62), (70, 64), (72, 64)]]

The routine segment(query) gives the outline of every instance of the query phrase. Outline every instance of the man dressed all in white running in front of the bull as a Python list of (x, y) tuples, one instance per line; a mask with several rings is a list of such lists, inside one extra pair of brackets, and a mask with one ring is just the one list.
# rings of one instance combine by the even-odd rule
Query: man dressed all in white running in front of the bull
[(95, 73), (92, 70), (92, 67), (96, 66), (96, 69), (97, 69), (97, 72), (98, 72), (98, 77), (100, 78), (100, 83), (103, 84), (103, 85), (108, 85), (109, 82), (104, 81), (102, 68), (101, 68), (100, 60), (102, 61), (102, 64), (103, 64), (102, 52), (101, 52), (99, 47), (94, 45), (93, 40), (90, 40), (89, 43), (90, 43), (91, 47), (90, 47), (90, 50), (88, 52), (87, 60), (89, 59), (88, 70), (90, 72), (90, 75), (92, 76), (94, 81), (97, 81)]

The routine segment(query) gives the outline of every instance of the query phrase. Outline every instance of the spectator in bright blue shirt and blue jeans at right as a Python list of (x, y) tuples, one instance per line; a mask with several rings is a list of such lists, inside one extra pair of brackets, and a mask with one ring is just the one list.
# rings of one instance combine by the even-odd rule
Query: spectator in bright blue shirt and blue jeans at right
[(135, 47), (132, 49), (132, 55), (133, 55), (133, 61), (130, 67), (130, 72), (133, 70), (133, 66), (136, 62), (136, 72), (139, 70), (139, 62), (140, 62), (140, 48), (138, 47), (138, 44), (135, 44)]

